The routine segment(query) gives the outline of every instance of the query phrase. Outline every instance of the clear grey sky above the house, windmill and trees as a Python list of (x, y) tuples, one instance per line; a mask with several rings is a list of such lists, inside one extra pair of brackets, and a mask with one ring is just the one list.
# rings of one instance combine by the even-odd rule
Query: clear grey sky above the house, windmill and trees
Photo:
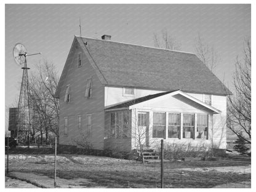
[(182, 51), (195, 52), (194, 39), (201, 34), (220, 57), (215, 75), (230, 90), (236, 57), (251, 31), (250, 4), (6, 4), (5, 6), (5, 105), (18, 100), (22, 70), (12, 50), (25, 45), (28, 67), (42, 58), (54, 63), (60, 75), (74, 35), (154, 46), (153, 34), (166, 29), (182, 44)]

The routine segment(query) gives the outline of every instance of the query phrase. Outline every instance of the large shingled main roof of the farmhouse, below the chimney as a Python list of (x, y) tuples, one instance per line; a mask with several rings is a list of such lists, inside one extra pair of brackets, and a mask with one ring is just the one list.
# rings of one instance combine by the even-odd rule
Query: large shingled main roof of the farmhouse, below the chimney
[[(195, 54), (102, 39), (74, 38), (106, 86), (231, 94)], [(62, 75), (60, 84), (62, 78), (65, 77)], [(57, 89), (55, 95), (58, 94)]]

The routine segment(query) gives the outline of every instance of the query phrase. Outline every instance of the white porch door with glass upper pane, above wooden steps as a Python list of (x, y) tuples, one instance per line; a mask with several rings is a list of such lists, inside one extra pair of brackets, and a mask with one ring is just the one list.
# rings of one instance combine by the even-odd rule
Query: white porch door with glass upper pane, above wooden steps
[(149, 146), (149, 113), (148, 112), (138, 112), (138, 129), (137, 129), (137, 141), (140, 142), (142, 146)]

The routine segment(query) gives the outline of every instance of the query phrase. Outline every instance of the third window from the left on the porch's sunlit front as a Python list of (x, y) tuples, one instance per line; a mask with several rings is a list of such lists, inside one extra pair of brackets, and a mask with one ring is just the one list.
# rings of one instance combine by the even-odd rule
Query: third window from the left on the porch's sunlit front
[(183, 138), (193, 138), (194, 114), (183, 114)]

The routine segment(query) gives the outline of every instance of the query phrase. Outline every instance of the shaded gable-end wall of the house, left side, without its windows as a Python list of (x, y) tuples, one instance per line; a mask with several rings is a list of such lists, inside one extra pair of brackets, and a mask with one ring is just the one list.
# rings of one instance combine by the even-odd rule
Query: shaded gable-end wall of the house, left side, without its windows
[[(78, 68), (78, 53), (82, 53), (82, 66)], [(60, 144), (75, 145), (86, 137), (86, 114), (92, 114), (92, 136), (88, 138), (95, 149), (103, 149), (104, 137), (104, 87), (75, 41), (67, 58), (68, 72), (60, 91)], [(92, 77), (92, 97), (84, 97), (87, 78)], [(70, 103), (64, 102), (66, 86), (70, 85)], [(78, 129), (78, 115), (82, 127)], [(64, 135), (64, 118), (68, 117), (68, 135)]]

